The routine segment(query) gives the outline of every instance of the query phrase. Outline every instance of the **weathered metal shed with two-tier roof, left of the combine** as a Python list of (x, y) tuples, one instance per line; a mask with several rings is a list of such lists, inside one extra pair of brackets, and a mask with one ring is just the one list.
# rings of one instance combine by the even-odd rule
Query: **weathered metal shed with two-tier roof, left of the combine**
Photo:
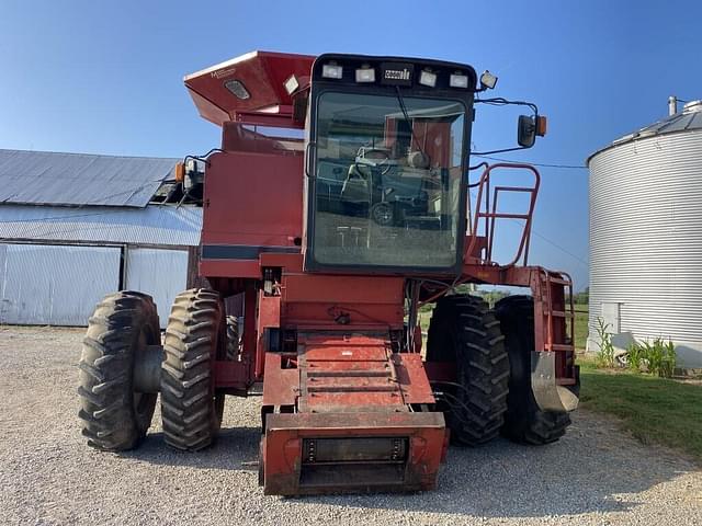
[(0, 323), (84, 325), (136, 289), (165, 325), (202, 228), (200, 208), (152, 203), (176, 162), (0, 150)]

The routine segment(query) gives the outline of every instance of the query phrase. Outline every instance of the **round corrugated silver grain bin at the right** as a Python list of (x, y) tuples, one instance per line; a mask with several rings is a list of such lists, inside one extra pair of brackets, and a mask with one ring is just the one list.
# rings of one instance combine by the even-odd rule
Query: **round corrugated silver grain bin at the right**
[(702, 367), (702, 101), (588, 159), (590, 315), (626, 347), (663, 336)]

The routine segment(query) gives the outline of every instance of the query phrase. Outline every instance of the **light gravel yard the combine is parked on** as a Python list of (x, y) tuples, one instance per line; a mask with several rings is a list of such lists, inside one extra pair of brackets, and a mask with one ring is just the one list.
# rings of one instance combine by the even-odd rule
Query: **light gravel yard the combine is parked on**
[(2, 524), (702, 524), (702, 474), (586, 411), (559, 443), (451, 448), (439, 489), (416, 494), (263, 496), (256, 398), (227, 398), (223, 436), (168, 449), (160, 414), (143, 446), (89, 448), (77, 420), (82, 330), (0, 328)]

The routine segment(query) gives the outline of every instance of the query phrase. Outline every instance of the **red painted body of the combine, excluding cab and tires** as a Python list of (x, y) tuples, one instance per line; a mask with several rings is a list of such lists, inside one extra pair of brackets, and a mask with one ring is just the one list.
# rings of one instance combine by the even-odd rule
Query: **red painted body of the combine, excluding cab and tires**
[[(295, 75), (306, 85), (313, 60), (259, 52), (185, 78), (201, 115), (223, 127), (225, 150), (210, 157), (206, 170), (200, 272), (223, 296), (245, 293), (242, 361), (216, 362), (215, 381), (227, 392), (245, 393), (264, 379), (265, 493), (432, 489), (449, 434), (442, 413), (430, 410), (434, 399), (429, 380), (455, 380), (455, 366), (422, 363), (419, 327), (409, 329), (415, 348), (398, 352), (404, 339), (404, 276), (303, 271), (303, 142), (252, 129), (301, 127), (292, 118), (293, 100), (283, 82)], [(244, 83), (250, 99), (239, 100), (225, 88), (233, 79)], [(432, 139), (445, 135), (442, 126), (420, 123), (414, 130), (416, 139), (430, 150)], [(525, 171), (530, 184), (491, 186), (495, 169)], [(435, 300), (460, 283), (530, 287), (535, 348), (558, 353), (556, 381), (567, 384), (575, 378), (573, 365), (565, 359), (566, 353), (573, 353), (567, 343), (571, 330), (566, 334), (573, 305), (565, 301), (571, 282), (564, 273), (525, 266), (539, 182), (539, 172), (530, 165), (489, 167), (480, 179), (479, 206), (466, 237), (462, 274), (457, 278), (426, 276), (434, 281), (434, 289), (421, 299)], [(498, 196), (509, 192), (529, 193), (529, 209), (498, 211)], [(517, 255), (508, 265), (490, 261), (495, 221), (500, 218), (524, 221)], [(524, 266), (517, 266), (520, 259)], [(271, 277), (268, 290), (263, 287), (267, 275)], [(435, 285), (437, 281), (445, 286)], [(267, 341), (267, 329), (279, 329), (281, 340)], [(310, 447), (305, 441), (348, 437), (407, 441), (397, 479), (374, 478), (371, 470), (356, 484), (320, 483), (324, 468), (305, 457), (309, 451), (304, 448)]]

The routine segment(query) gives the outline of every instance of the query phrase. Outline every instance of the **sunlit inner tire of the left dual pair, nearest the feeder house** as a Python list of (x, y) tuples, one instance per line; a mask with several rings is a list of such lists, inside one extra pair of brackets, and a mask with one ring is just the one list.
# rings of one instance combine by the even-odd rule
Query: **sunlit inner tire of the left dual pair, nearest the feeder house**
[(161, 416), (169, 446), (196, 451), (215, 441), (224, 395), (215, 395), (213, 364), (220, 346), (226, 353), (225, 338), (218, 293), (194, 288), (176, 297), (161, 366)]

